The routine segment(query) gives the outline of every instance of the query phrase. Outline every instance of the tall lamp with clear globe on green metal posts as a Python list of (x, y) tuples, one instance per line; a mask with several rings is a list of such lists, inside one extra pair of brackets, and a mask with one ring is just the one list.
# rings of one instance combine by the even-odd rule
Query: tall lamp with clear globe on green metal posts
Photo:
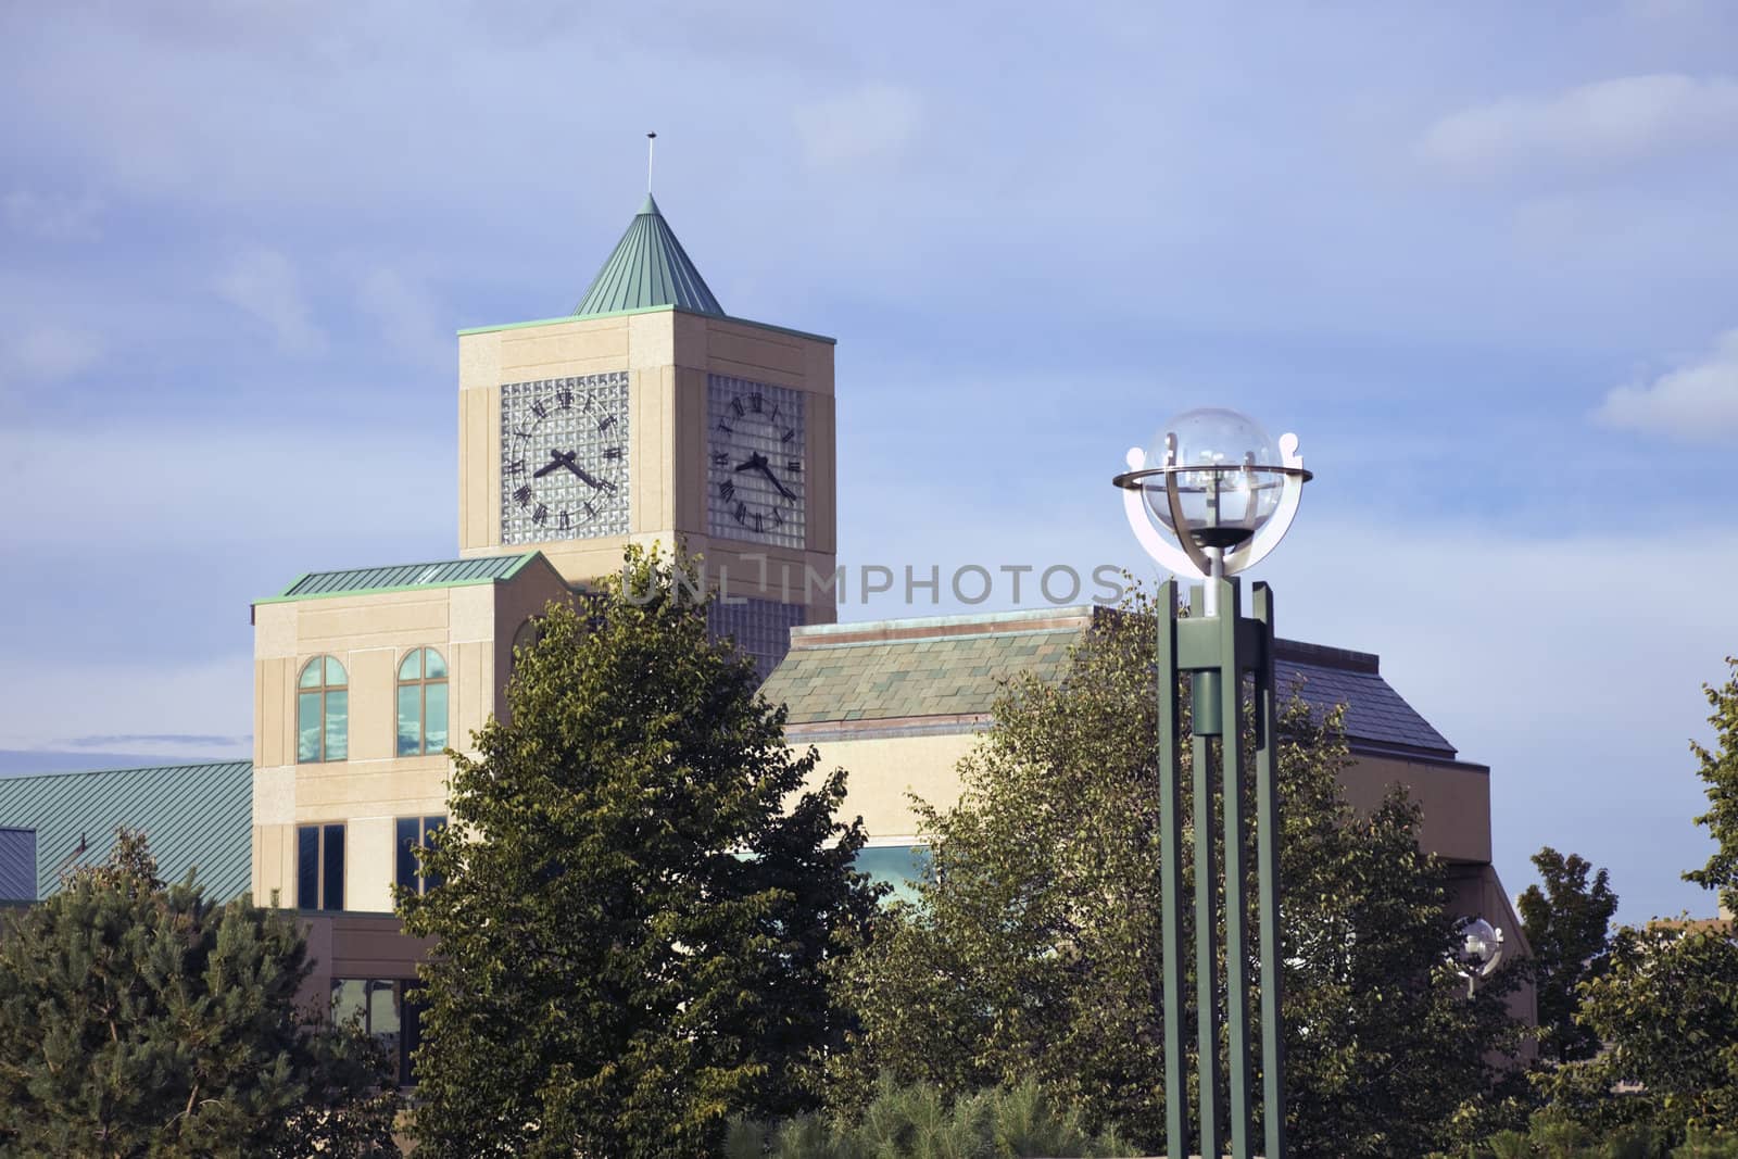
[(1284, 1159), (1284, 1056), (1279, 1034), (1279, 792), (1274, 758), (1274, 601), (1267, 584), (1251, 587), (1253, 617), (1241, 615), (1236, 575), (1262, 561), (1291, 528), (1310, 473), (1298, 440), (1277, 443), (1253, 419), (1203, 408), (1177, 415), (1149, 450), (1128, 452), (1123, 511), (1154, 563), (1196, 580), (1191, 615), (1177, 615), (1177, 580), (1159, 586), (1159, 895), (1164, 909), (1164, 1131), (1170, 1154), (1191, 1154), (1189, 1093), (1184, 1074), (1182, 924), (1182, 761), (1177, 697), (1191, 672), (1194, 761), (1194, 954), (1196, 1041), (1201, 1105), (1199, 1154), (1218, 1156), (1225, 1126), (1218, 1117), (1220, 987), (1215, 947), (1217, 884), (1213, 782), (1208, 770), (1218, 737), (1225, 831), (1225, 1069), (1231, 1088), (1231, 1154), (1253, 1159), (1253, 1027), (1250, 1025), (1248, 848), (1250, 803), (1243, 784), (1237, 723), (1243, 678), (1253, 676), (1255, 707), (1255, 871), (1260, 897), (1260, 1051), (1265, 1157)]

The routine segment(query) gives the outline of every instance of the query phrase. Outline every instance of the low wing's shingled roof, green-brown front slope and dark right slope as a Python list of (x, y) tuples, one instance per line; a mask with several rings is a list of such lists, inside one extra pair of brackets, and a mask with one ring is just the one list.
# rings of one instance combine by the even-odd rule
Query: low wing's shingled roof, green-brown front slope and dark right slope
[[(1069, 648), (1100, 613), (1079, 606), (799, 627), (761, 692), (786, 704), (791, 725), (985, 718), (1006, 679), (1062, 679)], [(1298, 685), (1319, 711), (1345, 704), (1354, 745), (1455, 758), (1370, 653), (1281, 639), (1274, 669), (1281, 695)]]

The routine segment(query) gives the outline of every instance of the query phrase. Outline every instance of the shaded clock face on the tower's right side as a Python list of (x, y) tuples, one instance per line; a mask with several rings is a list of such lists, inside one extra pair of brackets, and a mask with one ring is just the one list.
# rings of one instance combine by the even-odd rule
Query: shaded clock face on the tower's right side
[(707, 375), (707, 527), (713, 535), (803, 546), (808, 455), (803, 393)]

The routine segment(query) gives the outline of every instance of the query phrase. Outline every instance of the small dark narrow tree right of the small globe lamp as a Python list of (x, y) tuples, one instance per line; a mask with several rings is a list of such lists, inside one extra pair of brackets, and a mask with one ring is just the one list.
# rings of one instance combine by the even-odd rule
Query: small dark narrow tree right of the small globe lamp
[(1576, 1020), (1582, 1008), (1576, 987), (1606, 971), (1618, 895), (1604, 869), (1589, 883), (1592, 865), (1575, 853), (1564, 857), (1545, 846), (1533, 855), (1533, 865), (1545, 888), (1535, 884), (1521, 893), (1521, 930), (1533, 947), (1533, 957), (1521, 968), (1538, 992), (1540, 1053), (1552, 1062), (1592, 1058), (1599, 1053), (1599, 1036)]

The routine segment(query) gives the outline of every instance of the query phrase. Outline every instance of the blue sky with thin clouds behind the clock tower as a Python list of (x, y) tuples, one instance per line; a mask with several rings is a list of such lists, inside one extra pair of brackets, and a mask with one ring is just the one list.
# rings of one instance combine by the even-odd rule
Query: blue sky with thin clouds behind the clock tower
[(1257, 414), (1317, 471), (1281, 631), (1491, 765), (1509, 890), (1554, 844), (1710, 912), (1733, 43), (1721, 0), (7, 5), (0, 766), (245, 754), (250, 599), (455, 554), (454, 330), (572, 309), (655, 129), (725, 308), (839, 337), (843, 561), (1149, 572), (1123, 450)]

